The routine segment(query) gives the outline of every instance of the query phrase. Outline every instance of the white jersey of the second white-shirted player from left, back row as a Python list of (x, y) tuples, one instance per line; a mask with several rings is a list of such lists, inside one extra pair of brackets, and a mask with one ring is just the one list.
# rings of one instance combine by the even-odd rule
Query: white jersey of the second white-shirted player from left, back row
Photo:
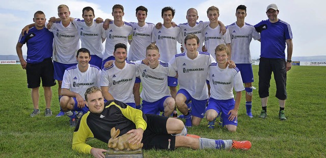
[(103, 22), (96, 23), (96, 20), (94, 20), (91, 26), (87, 26), (85, 20), (74, 19), (72, 23), (77, 26), (82, 48), (87, 48), (91, 55), (102, 58), (104, 52), (102, 38), (105, 38)]

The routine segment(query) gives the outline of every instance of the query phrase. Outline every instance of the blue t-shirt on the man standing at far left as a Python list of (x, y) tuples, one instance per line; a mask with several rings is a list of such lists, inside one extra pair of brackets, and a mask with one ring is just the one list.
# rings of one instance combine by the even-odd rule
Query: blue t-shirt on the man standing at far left
[(27, 58), (26, 62), (36, 64), (42, 62), (45, 58), (52, 57), (53, 33), (47, 28), (36, 29), (32, 27), (29, 33), (24, 33), (24, 36), (19, 36), (19, 43), (27, 43)]

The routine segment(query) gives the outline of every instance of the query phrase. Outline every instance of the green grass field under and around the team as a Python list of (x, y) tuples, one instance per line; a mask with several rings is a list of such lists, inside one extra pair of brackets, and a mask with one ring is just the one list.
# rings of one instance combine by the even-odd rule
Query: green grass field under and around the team
[[(253, 66), (258, 88), (258, 66)], [(275, 81), (271, 79), (266, 119), (258, 118), (261, 105), (258, 90), (254, 91), (254, 118), (246, 116), (244, 93), (238, 115), (238, 129), (229, 133), (218, 127), (206, 128), (203, 119), (199, 127), (188, 129), (211, 139), (250, 140), (252, 148), (241, 150), (146, 150), (145, 157), (326, 157), (326, 67), (293, 66), (288, 72), (286, 121), (278, 119)], [(31, 90), (20, 65), (0, 65), (0, 157), (92, 157), (71, 149), (73, 128), (67, 116), (56, 118), (59, 112), (57, 86), (52, 88), (52, 117), (44, 117), (45, 102), (40, 88), (41, 114), (32, 118)], [(89, 139), (91, 146), (106, 148), (106, 143)]]

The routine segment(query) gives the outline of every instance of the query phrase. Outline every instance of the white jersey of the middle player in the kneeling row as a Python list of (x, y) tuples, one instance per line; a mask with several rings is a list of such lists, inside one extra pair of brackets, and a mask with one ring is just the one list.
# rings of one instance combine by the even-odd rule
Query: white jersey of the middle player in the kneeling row
[(158, 66), (152, 69), (142, 61), (137, 62), (140, 65), (138, 68), (139, 77), (143, 85), (141, 98), (146, 102), (153, 103), (165, 96), (171, 96), (168, 87), (168, 76), (174, 77), (177, 75), (171, 65), (168, 62), (159, 61)]

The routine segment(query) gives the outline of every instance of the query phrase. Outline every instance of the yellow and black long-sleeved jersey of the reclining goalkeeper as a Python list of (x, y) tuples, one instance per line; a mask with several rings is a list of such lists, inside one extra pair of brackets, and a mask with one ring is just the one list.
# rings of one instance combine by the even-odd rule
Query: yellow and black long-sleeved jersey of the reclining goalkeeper
[(134, 109), (119, 101), (108, 101), (104, 110), (95, 114), (90, 111), (77, 122), (72, 138), (72, 149), (90, 153), (87, 138), (97, 138), (105, 143), (111, 138), (111, 129), (119, 129), (120, 136), (132, 129), (147, 128), (147, 119), (141, 110)]

